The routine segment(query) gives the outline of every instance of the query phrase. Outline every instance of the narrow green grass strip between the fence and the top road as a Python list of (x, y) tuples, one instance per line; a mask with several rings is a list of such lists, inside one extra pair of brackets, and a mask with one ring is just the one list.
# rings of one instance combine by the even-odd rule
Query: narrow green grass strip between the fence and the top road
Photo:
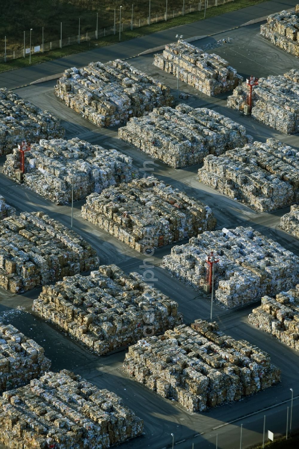
[[(39, 0), (35, 0), (36, 3), (39, 2)], [(53, 0), (52, 0), (53, 1)], [(221, 0), (219, 0), (221, 1)], [(213, 16), (217, 16), (220, 14), (228, 13), (230, 11), (235, 11), (240, 8), (246, 8), (247, 6), (252, 6), (255, 4), (262, 3), (266, 0), (235, 0), (230, 3), (225, 3), (224, 5), (219, 5), (217, 7), (208, 8), (206, 11), (206, 18), (210, 18)], [(33, 2), (34, 3), (34, 2)], [(44, 4), (48, 4), (50, 2), (44, 2)], [(186, 2), (185, 2), (186, 3)], [(197, 2), (198, 4), (198, 2)], [(136, 37), (145, 36), (151, 33), (154, 33), (156, 31), (162, 31), (168, 28), (171, 28), (173, 26), (183, 25), (186, 23), (195, 22), (198, 20), (204, 19), (204, 13), (201, 12), (195, 12), (195, 13), (189, 13), (184, 16), (179, 16), (177, 18), (170, 18), (167, 22), (155, 22), (152, 23), (150, 26), (141, 26), (134, 28), (132, 31), (123, 31), (121, 34), (121, 40), (130, 40), (134, 39)], [(46, 37), (44, 36), (44, 41), (46, 41)], [(32, 42), (34, 40), (32, 39)], [(116, 35), (109, 35), (106, 37), (101, 37), (98, 40), (91, 40), (87, 42), (81, 42), (80, 44), (70, 45), (63, 48), (57, 48), (55, 50), (51, 50), (44, 53), (37, 53), (31, 55), (31, 65), (40, 64), (41, 62), (46, 61), (52, 61), (53, 59), (57, 59), (60, 57), (65, 57), (74, 53), (80, 53), (85, 52), (87, 50), (90, 50), (92, 48), (99, 48), (104, 47), (106, 45), (111, 45), (119, 42), (119, 36), (118, 33)], [(27, 46), (27, 44), (26, 44)], [(26, 58), (17, 58), (14, 60), (8, 60), (6, 63), (0, 64), (0, 72), (8, 71), (8, 70), (14, 70), (19, 69), (22, 67), (29, 66), (29, 57), (26, 56)]]

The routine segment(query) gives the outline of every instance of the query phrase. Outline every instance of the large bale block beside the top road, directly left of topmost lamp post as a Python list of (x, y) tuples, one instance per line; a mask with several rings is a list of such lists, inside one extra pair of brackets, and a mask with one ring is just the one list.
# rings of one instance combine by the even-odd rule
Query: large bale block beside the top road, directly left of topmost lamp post
[(57, 97), (95, 125), (116, 126), (157, 106), (172, 106), (170, 88), (127, 62), (65, 70), (55, 86)]

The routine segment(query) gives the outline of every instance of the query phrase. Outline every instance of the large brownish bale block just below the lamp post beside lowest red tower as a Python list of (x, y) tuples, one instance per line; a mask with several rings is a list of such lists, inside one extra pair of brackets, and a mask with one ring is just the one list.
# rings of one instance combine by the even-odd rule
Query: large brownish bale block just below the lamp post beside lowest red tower
[(269, 354), (203, 320), (139, 340), (129, 347), (124, 369), (191, 412), (239, 401), (280, 381)]

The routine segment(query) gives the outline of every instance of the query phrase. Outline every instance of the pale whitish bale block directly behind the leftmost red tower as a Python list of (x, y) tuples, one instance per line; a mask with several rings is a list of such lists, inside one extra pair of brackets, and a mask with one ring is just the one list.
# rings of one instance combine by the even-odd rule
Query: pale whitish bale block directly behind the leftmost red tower
[[(3, 172), (13, 180), (19, 180), (20, 156), (17, 149), (6, 157)], [(138, 171), (132, 158), (117, 150), (106, 150), (78, 138), (69, 141), (41, 140), (31, 145), (25, 156), (24, 183), (36, 193), (57, 204), (66, 204), (86, 198), (91, 192), (120, 182), (129, 182)]]

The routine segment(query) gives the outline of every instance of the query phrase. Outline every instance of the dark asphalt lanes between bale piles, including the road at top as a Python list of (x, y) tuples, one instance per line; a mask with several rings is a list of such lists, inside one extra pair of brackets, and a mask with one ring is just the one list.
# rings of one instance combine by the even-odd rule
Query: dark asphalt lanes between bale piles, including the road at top
[[(244, 75), (267, 76), (282, 74), (290, 68), (298, 66), (298, 59), (288, 55), (277, 47), (263, 40), (258, 33), (259, 24), (220, 32), (234, 28), (252, 18), (265, 16), (281, 9), (288, 9), (296, 2), (265, 2), (234, 13), (224, 14), (217, 18), (196, 22), (175, 30), (167, 30), (156, 35), (127, 41), (91, 52), (72, 55), (58, 61), (40, 64), (28, 69), (15, 70), (0, 75), (0, 84), (7, 87), (17, 87), (28, 84), (42, 76), (59, 73), (69, 66), (82, 66), (88, 62), (101, 60), (105, 62), (115, 57), (135, 56), (141, 49), (152, 48), (166, 42), (173, 41), (176, 32), (184, 37), (192, 35), (206, 35), (219, 32), (217, 36), (208, 37), (195, 42), (195, 45), (207, 46), (207, 51), (215, 52), (228, 59), (239, 73)], [(208, 32), (209, 31), (209, 32)], [(228, 42), (218, 42), (229, 37)], [(133, 61), (132, 61), (133, 62)], [(169, 84), (175, 93), (176, 80), (152, 65), (152, 55), (134, 57), (134, 66)], [(253, 72), (253, 73), (252, 73)], [(66, 137), (77, 136), (91, 143), (106, 148), (117, 148), (122, 153), (133, 158), (134, 165), (139, 167), (140, 174), (144, 173), (144, 163), (152, 163), (154, 174), (161, 180), (184, 190), (190, 196), (198, 198), (208, 204), (217, 218), (217, 229), (235, 227), (238, 225), (252, 226), (268, 235), (299, 255), (299, 240), (279, 228), (280, 217), (289, 208), (272, 213), (260, 214), (244, 204), (219, 194), (197, 180), (197, 170), (193, 166), (174, 170), (133, 146), (118, 140), (117, 128), (100, 129), (92, 123), (82, 119), (73, 110), (59, 101), (54, 93), (55, 81), (35, 84), (19, 88), (17, 93), (30, 100), (36, 106), (48, 109), (57, 114), (66, 129)], [(254, 139), (265, 141), (274, 137), (294, 148), (299, 149), (298, 135), (284, 135), (256, 122), (251, 117), (245, 117), (238, 111), (226, 108), (226, 97), (206, 97), (190, 86), (181, 83), (180, 90), (190, 96), (184, 101), (195, 107), (210, 107), (231, 119), (243, 124), (247, 132)], [(52, 218), (60, 220), (70, 226), (70, 205), (56, 206), (45, 198), (30, 191), (23, 185), (9, 180), (2, 174), (4, 157), (0, 158), (0, 193), (17, 212), (38, 211), (47, 212)], [(126, 273), (138, 271), (143, 273), (143, 256), (119, 242), (113, 236), (100, 230), (94, 225), (82, 220), (81, 206), (84, 201), (74, 203), (74, 230), (88, 240), (96, 249), (102, 264), (115, 263)], [(184, 243), (184, 242), (182, 242)], [(209, 319), (210, 299), (201, 291), (187, 286), (161, 267), (163, 255), (169, 254), (171, 246), (155, 250), (153, 255), (153, 271), (156, 281), (154, 286), (176, 300), (179, 310), (183, 313), (184, 322), (190, 323), (201, 317)], [(214, 304), (214, 319), (219, 322), (221, 330), (236, 339), (247, 339), (269, 352), (272, 363), (282, 370), (282, 382), (256, 394), (243, 398), (233, 404), (225, 404), (204, 413), (190, 413), (174, 401), (163, 399), (144, 385), (129, 378), (121, 369), (125, 357), (125, 350), (117, 351), (104, 357), (97, 357), (67, 335), (57, 330), (31, 313), (33, 300), (38, 297), (41, 289), (35, 289), (23, 295), (11, 295), (0, 290), (0, 317), (5, 322), (11, 322), (25, 335), (35, 339), (45, 348), (45, 354), (52, 360), (52, 369), (63, 368), (74, 370), (95, 383), (100, 388), (108, 388), (119, 394), (126, 405), (144, 419), (144, 435), (121, 445), (123, 449), (163, 449), (172, 447), (171, 433), (174, 434), (175, 447), (178, 449), (214, 448), (216, 438), (218, 448), (239, 449), (241, 424), (242, 447), (246, 448), (262, 440), (264, 415), (266, 415), (266, 431), (274, 431), (275, 435), (286, 430), (286, 407), (290, 406), (290, 387), (294, 389), (293, 428), (298, 428), (299, 419), (299, 387), (298, 353), (280, 343), (266, 333), (261, 332), (247, 321), (248, 313), (257, 304), (247, 305), (233, 310), (226, 310), (219, 304)], [(287, 401), (287, 402), (286, 402)]]

